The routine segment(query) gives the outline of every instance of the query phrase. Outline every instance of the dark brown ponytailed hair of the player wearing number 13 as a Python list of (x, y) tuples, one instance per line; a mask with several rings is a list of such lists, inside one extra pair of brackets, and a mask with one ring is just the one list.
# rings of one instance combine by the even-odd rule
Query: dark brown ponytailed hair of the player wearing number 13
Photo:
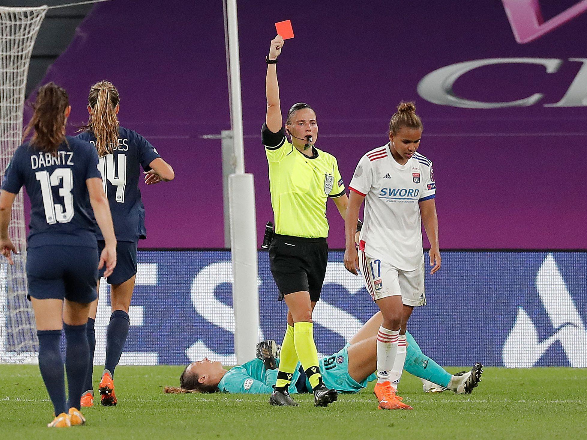
[(31, 145), (45, 153), (55, 154), (65, 140), (65, 110), (69, 107), (68, 93), (53, 82), (45, 84), (33, 104), (33, 116), (22, 135), (24, 142), (31, 128)]

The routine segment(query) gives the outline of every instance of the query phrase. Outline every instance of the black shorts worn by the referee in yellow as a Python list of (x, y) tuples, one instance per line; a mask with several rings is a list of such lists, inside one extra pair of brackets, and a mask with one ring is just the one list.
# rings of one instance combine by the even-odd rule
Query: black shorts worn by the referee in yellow
[(269, 245), (269, 260), (280, 301), (294, 292), (309, 292), (312, 301), (320, 299), (328, 263), (326, 238), (275, 234)]

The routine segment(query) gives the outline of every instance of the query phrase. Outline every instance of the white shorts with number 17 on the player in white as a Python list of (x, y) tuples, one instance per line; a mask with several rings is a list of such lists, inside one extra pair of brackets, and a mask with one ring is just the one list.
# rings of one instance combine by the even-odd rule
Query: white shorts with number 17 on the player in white
[(371, 258), (359, 251), (359, 268), (363, 282), (373, 301), (387, 296), (402, 295), (406, 306), (424, 306), (424, 261), (419, 269), (400, 270), (383, 260)]

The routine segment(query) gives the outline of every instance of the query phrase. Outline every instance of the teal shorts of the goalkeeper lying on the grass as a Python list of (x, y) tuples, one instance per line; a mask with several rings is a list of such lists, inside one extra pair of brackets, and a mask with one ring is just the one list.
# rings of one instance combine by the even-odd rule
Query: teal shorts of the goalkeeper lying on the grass
[[(367, 382), (375, 380), (377, 375), (371, 374), (361, 383), (350, 377), (349, 374), (349, 353), (348, 348), (350, 344), (332, 356), (324, 357), (318, 361), (320, 364), (320, 373), (322, 374), (322, 381), (328, 388), (337, 390), (338, 392), (359, 392), (367, 387)], [(306, 378), (306, 390), (311, 391), (312, 386)]]

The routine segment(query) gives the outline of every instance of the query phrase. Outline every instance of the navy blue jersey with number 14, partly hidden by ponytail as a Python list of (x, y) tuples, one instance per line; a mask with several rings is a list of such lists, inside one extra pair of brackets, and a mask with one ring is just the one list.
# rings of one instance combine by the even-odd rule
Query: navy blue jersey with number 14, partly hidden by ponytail
[[(120, 127), (118, 137), (113, 153), (100, 158), (100, 171), (110, 202), (116, 239), (134, 242), (147, 238), (145, 208), (139, 190), (140, 167), (149, 171), (149, 164), (160, 155), (135, 131)], [(96, 145), (96, 136), (89, 131), (78, 134), (77, 138)], [(96, 235), (97, 239), (104, 239), (99, 229), (96, 229)]]

